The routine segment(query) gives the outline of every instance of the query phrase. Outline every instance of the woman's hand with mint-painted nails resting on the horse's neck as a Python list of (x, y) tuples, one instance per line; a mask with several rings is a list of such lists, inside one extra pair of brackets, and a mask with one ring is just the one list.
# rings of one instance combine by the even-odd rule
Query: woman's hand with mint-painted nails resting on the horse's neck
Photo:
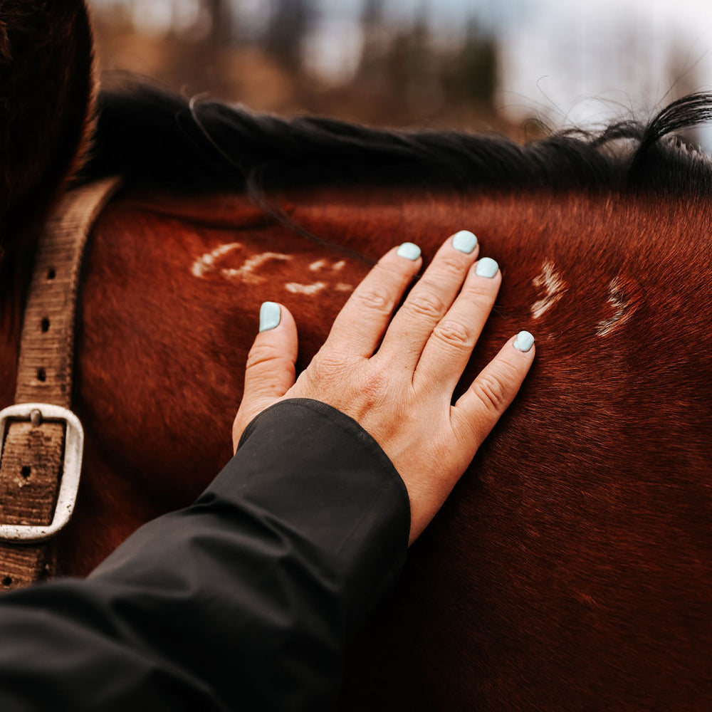
[(422, 263), (417, 246), (393, 248), (354, 290), (296, 382), (294, 319), (284, 306), (265, 303), (233, 425), (234, 447), (248, 423), (282, 399), (332, 405), (375, 438), (402, 477), (412, 543), (512, 402), (534, 359), (532, 337), (512, 337), (451, 405), (502, 279), (495, 261), (477, 258), (473, 234), (449, 238), (391, 318)]

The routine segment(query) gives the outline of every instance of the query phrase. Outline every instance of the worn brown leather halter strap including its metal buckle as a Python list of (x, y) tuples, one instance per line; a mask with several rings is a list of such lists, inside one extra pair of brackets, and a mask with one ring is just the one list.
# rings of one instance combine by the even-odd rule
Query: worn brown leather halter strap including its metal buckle
[(14, 407), (0, 413), (0, 592), (55, 573), (50, 539), (74, 506), (83, 433), (72, 398), (75, 312), (90, 230), (119, 187), (68, 192), (38, 242), (25, 308)]

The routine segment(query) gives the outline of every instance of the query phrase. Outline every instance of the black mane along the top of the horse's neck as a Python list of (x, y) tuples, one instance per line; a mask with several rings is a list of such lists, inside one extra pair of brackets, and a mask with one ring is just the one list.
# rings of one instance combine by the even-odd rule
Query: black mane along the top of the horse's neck
[(188, 192), (364, 184), (706, 195), (712, 161), (674, 132), (709, 120), (712, 94), (696, 93), (647, 123), (627, 119), (519, 145), (500, 135), (287, 120), (136, 83), (100, 95), (83, 178), (122, 174)]

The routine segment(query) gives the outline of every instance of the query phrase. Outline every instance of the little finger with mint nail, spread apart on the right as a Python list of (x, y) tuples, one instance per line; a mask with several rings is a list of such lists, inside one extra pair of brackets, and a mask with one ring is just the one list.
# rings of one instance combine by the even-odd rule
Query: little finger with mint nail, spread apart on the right
[(534, 360), (533, 344), (527, 331), (508, 340), (450, 409), (456, 438), (471, 443), (470, 459), (519, 391)]

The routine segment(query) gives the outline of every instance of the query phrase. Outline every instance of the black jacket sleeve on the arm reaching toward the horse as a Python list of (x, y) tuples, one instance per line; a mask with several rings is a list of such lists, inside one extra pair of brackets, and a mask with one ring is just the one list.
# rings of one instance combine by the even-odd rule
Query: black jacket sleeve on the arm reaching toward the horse
[(192, 506), (87, 580), (0, 598), (0, 710), (330, 709), (408, 532), (369, 434), (317, 401), (276, 404)]

